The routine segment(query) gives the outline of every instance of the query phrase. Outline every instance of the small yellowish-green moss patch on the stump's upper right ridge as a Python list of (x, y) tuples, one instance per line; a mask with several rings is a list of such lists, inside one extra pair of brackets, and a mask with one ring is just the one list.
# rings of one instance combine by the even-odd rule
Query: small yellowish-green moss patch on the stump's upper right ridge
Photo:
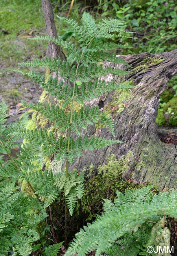
[(164, 59), (161, 58), (145, 58), (140, 62), (140, 65), (132, 69), (133, 73), (138, 73), (139, 71), (145, 72), (150, 65), (155, 65), (162, 62)]

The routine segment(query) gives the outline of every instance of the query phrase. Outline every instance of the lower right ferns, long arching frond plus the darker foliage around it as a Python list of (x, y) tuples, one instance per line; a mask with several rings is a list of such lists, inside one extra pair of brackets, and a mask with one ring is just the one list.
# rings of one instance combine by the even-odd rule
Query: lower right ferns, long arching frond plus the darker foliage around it
[(177, 218), (177, 191), (153, 195), (151, 189), (126, 190), (125, 195), (117, 191), (114, 203), (105, 200), (105, 212), (76, 234), (65, 256), (84, 256), (94, 249), (96, 256), (151, 255), (149, 245), (170, 247), (165, 217)]

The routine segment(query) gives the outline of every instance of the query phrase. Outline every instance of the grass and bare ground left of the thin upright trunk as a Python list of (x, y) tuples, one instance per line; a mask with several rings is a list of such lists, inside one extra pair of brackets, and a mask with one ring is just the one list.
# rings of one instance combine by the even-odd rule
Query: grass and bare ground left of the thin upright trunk
[[(7, 123), (19, 119), (26, 111), (21, 101), (38, 102), (42, 92), (39, 84), (14, 70), (21, 69), (18, 63), (46, 55), (47, 43), (29, 40), (45, 35), (41, 6), (2, 0), (0, 11), (0, 102), (7, 105)], [(31, 69), (23, 69), (28, 72)], [(35, 69), (35, 71), (37, 71)], [(45, 70), (41, 69), (44, 73)]]

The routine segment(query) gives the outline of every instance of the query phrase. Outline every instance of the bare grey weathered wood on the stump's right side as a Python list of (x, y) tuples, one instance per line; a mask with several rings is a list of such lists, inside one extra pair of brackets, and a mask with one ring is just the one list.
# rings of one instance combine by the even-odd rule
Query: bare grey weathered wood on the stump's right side
[[(85, 167), (87, 169), (93, 164), (96, 169), (98, 165), (107, 161), (111, 153), (120, 158), (130, 150), (133, 155), (129, 162), (129, 170), (123, 175), (124, 179), (130, 179), (138, 184), (156, 184), (161, 189), (176, 187), (177, 149), (175, 145), (168, 145), (160, 141), (159, 135), (163, 134), (163, 130), (158, 129), (155, 119), (160, 94), (166, 89), (170, 78), (177, 73), (177, 50), (157, 55), (145, 52), (119, 57), (127, 61), (133, 68), (133, 72), (126, 75), (124, 80), (131, 79), (135, 85), (131, 89), (131, 98), (124, 102), (126, 108), (114, 118), (116, 132), (114, 139), (119, 139), (124, 143), (92, 152), (85, 150), (83, 156), (78, 158), (76, 163), (70, 165), (70, 168), (80, 170)], [(157, 63), (157, 60), (151, 59), (155, 64), (146, 65), (144, 62), (149, 61), (147, 58), (164, 60)], [(105, 66), (121, 67), (107, 62), (105, 62)], [(122, 68), (125, 67), (122, 66)], [(131, 71), (131, 69), (129, 70)], [(112, 80), (120, 82), (122, 77), (109, 74), (104, 79), (109, 82)], [(112, 95), (113, 93), (103, 95), (89, 104), (98, 104), (100, 108), (105, 107), (109, 104)], [(96, 128), (92, 126), (89, 127), (87, 134), (90, 136), (95, 132)], [(100, 136), (106, 139), (113, 138), (107, 129), (101, 129), (100, 133)], [(85, 131), (82, 135), (85, 135)]]

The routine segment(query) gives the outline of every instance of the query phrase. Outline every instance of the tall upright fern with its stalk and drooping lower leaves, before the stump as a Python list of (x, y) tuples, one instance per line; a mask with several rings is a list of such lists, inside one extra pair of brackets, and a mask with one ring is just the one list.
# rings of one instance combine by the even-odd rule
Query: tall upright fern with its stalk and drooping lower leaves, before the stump
[[(124, 88), (124, 86), (127, 88), (127, 85), (117, 85), (115, 82), (109, 83), (103, 79), (100, 80), (101, 76), (109, 73), (114, 75), (128, 73), (120, 69), (103, 68), (103, 61), (128, 64), (123, 59), (116, 57), (115, 54), (107, 52), (107, 50), (114, 50), (118, 47), (126, 48), (126, 46), (111, 41), (115, 37), (125, 36), (124, 21), (109, 19), (96, 24), (89, 13), (84, 13), (82, 18), (83, 25), (79, 26), (74, 20), (63, 17), (58, 18), (74, 30), (77, 46), (62, 39), (48, 36), (34, 38), (34, 40), (52, 41), (56, 45), (65, 48), (68, 60), (43, 58), (19, 63), (19, 65), (49, 68), (53, 72), (59, 72), (60, 76), (68, 82), (61, 81), (58, 83), (57, 79), (52, 78), (52, 76), (46, 81), (45, 76), (34, 71), (25, 73), (22, 70), (17, 70), (17, 72), (37, 81), (46, 91), (59, 100), (60, 104), (58, 106), (51, 106), (46, 103), (28, 105), (23, 102), (23, 104), (28, 108), (35, 109), (48, 119), (55, 125), (57, 132), (61, 135), (57, 137), (53, 131), (42, 128), (24, 132), (19, 127), (16, 127), (18, 132), (15, 134), (17, 129), (10, 128), (11, 134), (13, 134), (13, 137), (15, 136), (15, 139), (18, 139), (20, 135), (25, 138), (25, 142), (20, 149), (20, 156), (18, 156), (18, 161), (21, 163), (20, 169), (24, 180), (28, 182), (37, 199), (43, 203), (43, 207), (47, 208), (54, 200), (60, 197), (61, 193), (64, 194), (66, 202), (66, 234), (66, 206), (68, 206), (70, 215), (72, 215), (77, 198), (83, 196), (84, 181), (84, 173), (78, 175), (77, 172), (68, 170), (68, 163), (73, 163), (78, 156), (82, 155), (83, 150), (94, 150), (111, 146), (114, 143), (121, 143), (119, 140), (106, 140), (101, 136), (81, 136), (82, 129), (87, 129), (88, 125), (97, 123), (109, 128), (112, 135), (114, 135), (114, 122), (111, 116), (103, 112), (100, 113), (98, 106), (85, 106), (85, 101), (97, 98), (103, 93), (114, 89)], [(107, 39), (109, 42), (105, 42)], [(71, 61), (74, 63), (73, 65), (71, 65)], [(79, 109), (75, 109), (75, 105), (79, 106)], [(25, 116), (24, 122), (26, 118)], [(6, 139), (6, 141), (8, 140)], [(10, 144), (12, 142), (11, 139), (8, 142)], [(46, 158), (53, 158), (54, 161), (63, 161), (65, 159), (65, 173), (59, 171), (57, 175), (54, 175), (50, 171), (50, 167), (49, 171), (45, 170), (44, 159)]]

